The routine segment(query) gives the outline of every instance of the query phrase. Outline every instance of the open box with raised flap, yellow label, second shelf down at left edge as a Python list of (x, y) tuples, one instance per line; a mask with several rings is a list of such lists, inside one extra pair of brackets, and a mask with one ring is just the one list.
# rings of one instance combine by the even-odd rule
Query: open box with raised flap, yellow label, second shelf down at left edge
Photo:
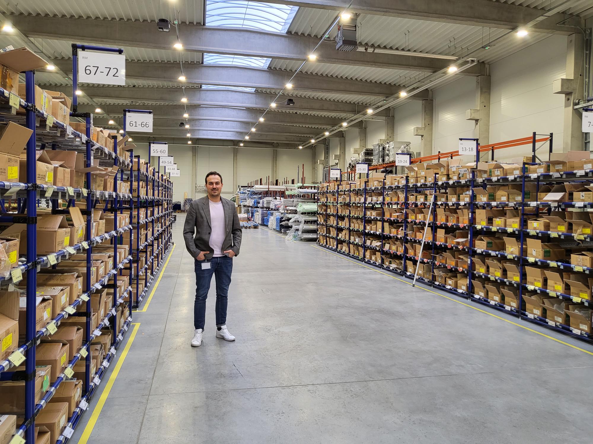
[[(1, 55), (2, 53), (0, 53)], [(0, 181), (19, 181), (20, 156), (31, 134), (33, 131), (14, 122), (8, 122), (7, 126), (2, 127), (0, 132)]]

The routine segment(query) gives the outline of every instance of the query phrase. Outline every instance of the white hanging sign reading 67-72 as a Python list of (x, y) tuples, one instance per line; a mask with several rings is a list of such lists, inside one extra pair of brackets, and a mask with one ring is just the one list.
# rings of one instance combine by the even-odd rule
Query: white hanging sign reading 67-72
[(78, 53), (78, 81), (99, 85), (126, 84), (126, 56), (124, 54), (80, 51)]

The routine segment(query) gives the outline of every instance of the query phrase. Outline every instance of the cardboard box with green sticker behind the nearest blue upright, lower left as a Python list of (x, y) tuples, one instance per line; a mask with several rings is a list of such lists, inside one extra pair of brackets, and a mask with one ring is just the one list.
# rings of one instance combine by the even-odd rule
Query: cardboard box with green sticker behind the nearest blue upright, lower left
[[(20, 366), (11, 371), (24, 372), (25, 367)], [(35, 403), (38, 403), (47, 391), (50, 384), (52, 368), (49, 365), (37, 365), (35, 369)], [(0, 411), (23, 415), (25, 413), (25, 381), (0, 382)]]

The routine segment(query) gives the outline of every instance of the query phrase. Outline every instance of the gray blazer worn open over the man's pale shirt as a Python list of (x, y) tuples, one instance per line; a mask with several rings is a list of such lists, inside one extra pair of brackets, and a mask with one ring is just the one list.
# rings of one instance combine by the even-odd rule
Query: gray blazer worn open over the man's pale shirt
[[(224, 209), (224, 220), (227, 225), (227, 236), (222, 243), (222, 251), (233, 250), (235, 255), (238, 255), (242, 233), (237, 208), (228, 199), (221, 197), (221, 200)], [(183, 226), (183, 238), (186, 242), (186, 248), (194, 259), (203, 251), (209, 251), (210, 253), (204, 256), (206, 259), (212, 259), (214, 252), (210, 246), (211, 229), (212, 220), (210, 219), (208, 196), (196, 199), (187, 208), (186, 221)], [(196, 234), (195, 237), (194, 233)]]

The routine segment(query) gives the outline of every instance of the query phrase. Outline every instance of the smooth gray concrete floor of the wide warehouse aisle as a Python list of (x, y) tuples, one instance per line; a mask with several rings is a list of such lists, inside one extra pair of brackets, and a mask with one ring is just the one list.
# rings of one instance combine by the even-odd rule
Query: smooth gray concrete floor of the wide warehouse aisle
[(237, 340), (214, 336), (212, 285), (204, 343), (191, 348), (195, 275), (183, 220), (81, 442), (590, 442), (592, 346), (266, 229), (244, 230), (234, 260), (228, 327)]

